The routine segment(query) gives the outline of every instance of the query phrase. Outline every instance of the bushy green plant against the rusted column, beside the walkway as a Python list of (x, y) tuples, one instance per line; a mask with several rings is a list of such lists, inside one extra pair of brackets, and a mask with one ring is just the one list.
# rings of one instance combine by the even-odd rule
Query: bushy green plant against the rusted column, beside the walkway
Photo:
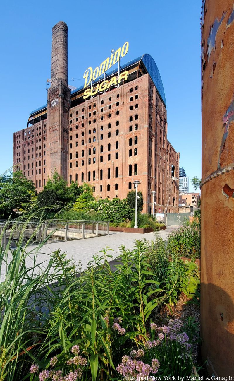
[(176, 253), (186, 258), (200, 258), (201, 230), (194, 221), (187, 226), (172, 231), (168, 236), (169, 253)]

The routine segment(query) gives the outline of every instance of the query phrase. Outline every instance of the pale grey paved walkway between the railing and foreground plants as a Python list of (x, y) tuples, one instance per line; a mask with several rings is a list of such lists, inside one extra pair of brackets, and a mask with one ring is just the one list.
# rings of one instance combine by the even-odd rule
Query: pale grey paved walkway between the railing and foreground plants
[[(160, 231), (158, 234), (163, 240), (167, 239), (167, 235), (173, 228), (169, 227), (166, 230)], [(54, 250), (60, 249), (67, 253), (67, 258), (74, 258), (75, 264), (78, 265), (79, 261), (82, 264), (82, 270), (87, 268), (87, 264), (92, 260), (93, 256), (100, 250), (106, 247), (110, 247), (113, 251), (109, 251), (109, 254), (113, 256), (113, 259), (119, 256), (119, 248), (121, 245), (125, 245), (127, 249), (131, 249), (135, 245), (135, 240), (155, 240), (155, 233), (135, 234), (135, 233), (123, 233), (123, 232), (110, 232), (109, 235), (102, 237), (92, 237), (80, 240), (72, 240), (67, 242), (48, 243), (38, 250), (36, 263), (42, 263), (41, 267), (44, 268), (49, 263), (50, 255)], [(30, 252), (30, 256), (27, 257), (27, 266), (33, 266), (33, 256), (37, 247), (29, 246), (27, 253)], [(101, 255), (101, 253), (99, 253)], [(11, 257), (11, 255), (10, 255)], [(111, 261), (111, 259), (110, 259)], [(5, 266), (3, 266), (5, 267)], [(2, 276), (4, 277), (4, 269), (2, 267)], [(0, 277), (2, 278), (2, 277)]]

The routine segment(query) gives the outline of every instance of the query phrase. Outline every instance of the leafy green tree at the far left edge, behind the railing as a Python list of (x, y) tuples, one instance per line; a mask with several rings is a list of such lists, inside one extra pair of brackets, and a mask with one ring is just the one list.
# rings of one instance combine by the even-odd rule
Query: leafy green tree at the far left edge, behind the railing
[(22, 171), (10, 171), (0, 177), (0, 216), (8, 218), (10, 215), (24, 209), (35, 199), (37, 194), (31, 180), (23, 176)]

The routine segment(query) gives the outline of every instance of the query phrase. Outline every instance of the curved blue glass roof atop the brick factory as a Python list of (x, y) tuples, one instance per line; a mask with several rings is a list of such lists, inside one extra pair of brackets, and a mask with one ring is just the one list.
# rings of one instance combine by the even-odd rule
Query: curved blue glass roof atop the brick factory
[[(142, 61), (143, 62), (147, 72), (150, 74), (150, 77), (153, 80), (154, 85), (156, 86), (156, 88), (157, 88), (157, 90), (159, 92), (159, 95), (161, 96), (162, 102), (166, 106), (166, 97), (165, 97), (164, 88), (163, 88), (163, 85), (162, 85), (162, 78), (161, 78), (161, 75), (159, 73), (158, 66), (156, 65), (156, 62), (150, 56), (150, 54), (143, 54), (142, 56), (140, 56), (138, 58), (135, 58), (135, 59), (132, 59), (132, 61), (129, 61), (129, 62), (127, 62), (124, 65), (122, 65), (121, 62), (120, 62), (121, 69), (126, 69), (126, 67), (134, 65), (138, 61)], [(111, 77), (112, 75), (114, 75), (116, 73), (118, 73), (118, 68), (115, 68), (113, 70), (109, 70), (106, 73), (106, 75), (108, 77)], [(95, 82), (99, 82), (103, 78), (104, 78), (104, 74), (100, 75), (100, 77), (98, 77), (95, 80)], [(80, 86), (77, 89), (72, 90), (71, 91), (71, 95), (73, 95), (75, 93), (78, 93), (80, 90), (83, 90), (83, 88), (84, 88), (84, 86)], [(35, 112), (40, 111), (40, 110), (42, 110), (42, 109), (44, 109), (46, 107), (47, 107), (47, 105), (39, 107), (38, 109), (33, 110), (32, 112), (30, 112), (29, 115), (35, 114)]]

